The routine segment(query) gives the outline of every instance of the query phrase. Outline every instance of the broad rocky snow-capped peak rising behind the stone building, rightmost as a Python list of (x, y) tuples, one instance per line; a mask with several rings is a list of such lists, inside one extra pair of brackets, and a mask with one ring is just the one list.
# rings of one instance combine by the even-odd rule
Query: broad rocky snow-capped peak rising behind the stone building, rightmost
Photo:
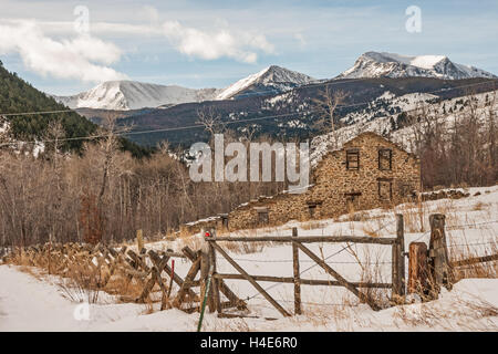
[(425, 76), (460, 80), (471, 77), (497, 77), (484, 70), (457, 64), (446, 55), (401, 55), (386, 52), (366, 52), (354, 65), (336, 79), (356, 77), (408, 77)]

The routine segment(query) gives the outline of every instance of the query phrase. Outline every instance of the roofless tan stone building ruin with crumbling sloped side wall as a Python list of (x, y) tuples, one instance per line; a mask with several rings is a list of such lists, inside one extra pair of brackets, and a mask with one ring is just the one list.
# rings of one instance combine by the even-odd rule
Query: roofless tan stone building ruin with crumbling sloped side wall
[(417, 195), (421, 165), (415, 155), (369, 132), (326, 153), (313, 168), (311, 181), (302, 194), (261, 197), (209, 220), (209, 225), (193, 226), (237, 230), (393, 206)]

